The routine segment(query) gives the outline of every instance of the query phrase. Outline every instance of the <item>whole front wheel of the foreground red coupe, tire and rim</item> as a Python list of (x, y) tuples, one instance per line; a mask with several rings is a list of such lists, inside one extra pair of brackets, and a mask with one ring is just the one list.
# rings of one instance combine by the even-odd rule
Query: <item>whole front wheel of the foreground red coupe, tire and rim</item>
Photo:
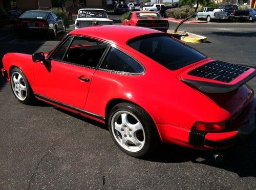
[(33, 91), (22, 70), (14, 68), (11, 70), (11, 88), (17, 100), (24, 104), (34, 102)]

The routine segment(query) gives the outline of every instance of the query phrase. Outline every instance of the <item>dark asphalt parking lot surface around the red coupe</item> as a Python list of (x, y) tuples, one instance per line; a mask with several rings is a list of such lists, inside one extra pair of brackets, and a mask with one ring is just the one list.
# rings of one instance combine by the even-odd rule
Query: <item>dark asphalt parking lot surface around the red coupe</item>
[[(207, 43), (189, 45), (209, 57), (255, 67), (255, 26), (212, 22), (180, 30), (206, 36)], [(65, 37), (0, 35), (0, 60), (7, 52), (49, 51)], [(256, 90), (256, 79), (249, 84)], [(174, 145), (138, 159), (120, 151), (100, 123), (44, 102), (19, 103), (3, 77), (0, 97), (0, 189), (256, 189), (255, 134), (248, 145), (224, 151), (222, 162)]]

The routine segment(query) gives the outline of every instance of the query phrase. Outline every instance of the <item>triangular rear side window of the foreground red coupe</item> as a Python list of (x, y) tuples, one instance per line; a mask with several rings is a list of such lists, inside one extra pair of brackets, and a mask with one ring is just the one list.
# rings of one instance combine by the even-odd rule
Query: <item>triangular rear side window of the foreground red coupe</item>
[(105, 57), (100, 68), (127, 73), (142, 73), (144, 71), (143, 67), (138, 62), (113, 47)]

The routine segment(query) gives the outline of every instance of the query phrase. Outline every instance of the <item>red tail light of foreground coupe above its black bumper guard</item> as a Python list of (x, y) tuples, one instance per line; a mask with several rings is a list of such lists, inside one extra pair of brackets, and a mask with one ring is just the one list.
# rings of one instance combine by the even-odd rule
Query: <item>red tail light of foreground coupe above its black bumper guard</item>
[(197, 121), (194, 125), (193, 129), (207, 132), (218, 132), (222, 131), (226, 128), (227, 122), (219, 122), (219, 123), (205, 123), (201, 121)]

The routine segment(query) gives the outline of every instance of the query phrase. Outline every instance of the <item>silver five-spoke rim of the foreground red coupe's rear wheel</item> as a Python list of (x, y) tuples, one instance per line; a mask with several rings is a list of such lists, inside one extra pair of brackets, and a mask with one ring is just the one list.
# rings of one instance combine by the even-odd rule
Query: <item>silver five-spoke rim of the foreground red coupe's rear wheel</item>
[(138, 152), (145, 145), (145, 131), (139, 119), (130, 112), (119, 111), (111, 120), (116, 142), (125, 150)]

